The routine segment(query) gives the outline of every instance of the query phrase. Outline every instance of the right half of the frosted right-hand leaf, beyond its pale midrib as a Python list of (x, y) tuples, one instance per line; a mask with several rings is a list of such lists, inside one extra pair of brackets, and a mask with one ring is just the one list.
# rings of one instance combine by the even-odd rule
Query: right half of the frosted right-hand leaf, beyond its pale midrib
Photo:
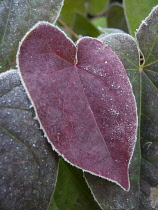
[(141, 117), (141, 202), (140, 208), (158, 207), (158, 6), (143, 21), (136, 34), (144, 57)]

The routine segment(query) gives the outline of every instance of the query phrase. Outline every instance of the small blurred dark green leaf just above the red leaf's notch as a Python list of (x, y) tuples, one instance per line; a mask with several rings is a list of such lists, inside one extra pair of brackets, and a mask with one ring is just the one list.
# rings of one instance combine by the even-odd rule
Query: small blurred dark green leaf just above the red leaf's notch
[(82, 36), (97, 37), (100, 35), (99, 30), (79, 13), (75, 13), (73, 31)]

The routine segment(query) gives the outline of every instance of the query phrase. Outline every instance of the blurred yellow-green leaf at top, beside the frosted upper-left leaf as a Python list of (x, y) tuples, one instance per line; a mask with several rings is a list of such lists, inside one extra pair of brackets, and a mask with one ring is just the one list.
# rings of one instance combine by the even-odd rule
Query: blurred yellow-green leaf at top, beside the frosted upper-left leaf
[(84, 0), (65, 0), (60, 13), (60, 18), (71, 27), (74, 21), (75, 12), (79, 12), (82, 15), (86, 14)]

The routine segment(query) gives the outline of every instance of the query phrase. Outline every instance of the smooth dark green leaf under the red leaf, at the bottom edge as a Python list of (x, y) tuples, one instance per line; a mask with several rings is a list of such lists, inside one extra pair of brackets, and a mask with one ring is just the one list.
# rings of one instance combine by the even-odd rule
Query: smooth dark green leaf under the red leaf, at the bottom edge
[(54, 197), (48, 210), (99, 210), (83, 178), (83, 172), (63, 159), (60, 160), (59, 174)]

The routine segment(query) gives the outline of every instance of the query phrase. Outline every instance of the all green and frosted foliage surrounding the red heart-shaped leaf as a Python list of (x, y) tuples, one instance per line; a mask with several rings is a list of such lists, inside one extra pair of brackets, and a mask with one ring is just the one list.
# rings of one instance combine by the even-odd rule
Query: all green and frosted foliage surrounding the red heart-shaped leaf
[(59, 160), (33, 119), (17, 71), (9, 70), (0, 75), (0, 208), (156, 209), (158, 9), (142, 21), (157, 0), (65, 0), (62, 4), (62, 0), (0, 1), (0, 71), (16, 68), (18, 43), (39, 20), (56, 22), (74, 41), (99, 36), (124, 64), (137, 100), (139, 129), (130, 166), (131, 189), (125, 192), (109, 181), (83, 176)]

